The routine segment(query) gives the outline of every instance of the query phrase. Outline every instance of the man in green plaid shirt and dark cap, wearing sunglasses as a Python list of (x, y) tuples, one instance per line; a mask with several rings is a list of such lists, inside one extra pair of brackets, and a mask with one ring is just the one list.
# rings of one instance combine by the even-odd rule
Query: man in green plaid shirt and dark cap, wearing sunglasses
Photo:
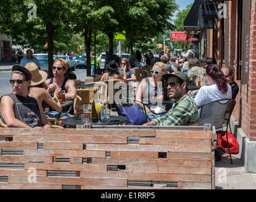
[(189, 78), (186, 73), (174, 71), (163, 74), (169, 98), (176, 101), (164, 116), (157, 117), (144, 125), (188, 126), (198, 121), (198, 109), (195, 100), (188, 94)]

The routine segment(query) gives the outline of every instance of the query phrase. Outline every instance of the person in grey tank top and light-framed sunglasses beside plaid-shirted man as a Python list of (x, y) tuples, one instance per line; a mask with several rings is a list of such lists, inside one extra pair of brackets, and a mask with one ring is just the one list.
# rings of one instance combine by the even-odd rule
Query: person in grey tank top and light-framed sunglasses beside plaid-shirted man
[[(138, 91), (136, 93), (136, 100), (144, 102), (144, 104), (147, 105), (146, 112), (149, 121), (151, 121), (151, 119), (155, 119), (156, 117), (163, 116), (163, 114), (159, 114), (163, 111), (163, 109), (159, 109), (157, 104), (151, 103), (150, 100), (151, 98), (158, 96), (162, 97), (162, 75), (167, 73), (165, 64), (163, 64), (163, 62), (156, 62), (153, 68), (150, 70), (150, 73), (151, 77), (147, 77), (141, 80)], [(143, 108), (143, 104), (139, 102), (137, 104)], [(157, 112), (159, 115), (153, 114), (151, 111)]]

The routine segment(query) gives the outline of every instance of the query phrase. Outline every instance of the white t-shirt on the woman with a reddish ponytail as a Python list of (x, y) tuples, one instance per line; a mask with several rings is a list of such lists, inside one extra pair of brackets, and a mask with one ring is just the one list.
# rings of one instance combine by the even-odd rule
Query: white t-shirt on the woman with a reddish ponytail
[(223, 95), (222, 92), (218, 89), (217, 85), (202, 86), (195, 97), (196, 105), (202, 106), (207, 102), (212, 102), (214, 100), (222, 99), (231, 99), (232, 98), (232, 89), (230, 85), (227, 85), (227, 93)]

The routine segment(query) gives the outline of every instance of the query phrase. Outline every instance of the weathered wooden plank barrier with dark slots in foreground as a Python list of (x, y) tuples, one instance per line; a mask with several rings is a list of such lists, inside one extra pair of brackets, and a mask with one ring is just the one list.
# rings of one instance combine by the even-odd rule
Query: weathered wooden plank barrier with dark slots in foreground
[(203, 126), (0, 128), (0, 189), (214, 189)]

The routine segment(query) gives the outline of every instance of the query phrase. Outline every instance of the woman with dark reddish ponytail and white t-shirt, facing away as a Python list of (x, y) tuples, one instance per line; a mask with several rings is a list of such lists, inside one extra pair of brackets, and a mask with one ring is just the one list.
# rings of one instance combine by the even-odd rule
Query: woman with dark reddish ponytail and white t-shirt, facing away
[(231, 99), (232, 90), (228, 85), (224, 73), (217, 64), (209, 64), (205, 68), (204, 74), (208, 86), (202, 86), (195, 97), (195, 102), (198, 107), (212, 102), (214, 100)]

